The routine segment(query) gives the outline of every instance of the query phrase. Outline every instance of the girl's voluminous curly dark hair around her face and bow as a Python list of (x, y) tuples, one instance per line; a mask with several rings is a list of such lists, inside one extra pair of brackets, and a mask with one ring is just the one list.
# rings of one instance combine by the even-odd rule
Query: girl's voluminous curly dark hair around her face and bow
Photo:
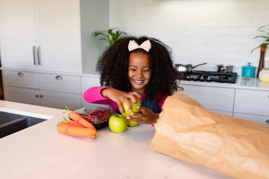
[[(143, 49), (129, 52), (128, 44), (130, 40), (135, 40), (138, 44), (150, 40), (151, 49), (149, 52)], [(149, 99), (159, 97), (158, 101), (160, 101), (164, 95), (172, 95), (176, 91), (176, 70), (171, 58), (172, 49), (159, 39), (147, 36), (122, 38), (99, 57), (96, 70), (101, 75), (101, 86), (111, 86), (123, 92), (131, 90), (128, 78), (130, 53), (149, 54), (152, 69), (151, 80), (146, 89)]]

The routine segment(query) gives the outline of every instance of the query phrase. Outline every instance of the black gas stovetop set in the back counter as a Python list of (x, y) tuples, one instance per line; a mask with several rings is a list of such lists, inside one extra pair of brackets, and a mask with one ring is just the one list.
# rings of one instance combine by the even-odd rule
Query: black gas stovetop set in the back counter
[(177, 78), (179, 80), (188, 81), (236, 83), (237, 73), (220, 73), (208, 71), (192, 71), (186, 73), (178, 72)]

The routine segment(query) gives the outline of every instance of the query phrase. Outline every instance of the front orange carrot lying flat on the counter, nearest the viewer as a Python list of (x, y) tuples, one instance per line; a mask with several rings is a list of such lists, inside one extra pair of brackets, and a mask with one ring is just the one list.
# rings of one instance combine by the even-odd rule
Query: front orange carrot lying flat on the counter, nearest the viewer
[(93, 128), (77, 127), (66, 122), (60, 123), (58, 125), (58, 131), (64, 135), (69, 136), (87, 137), (90, 139), (96, 138), (96, 130)]

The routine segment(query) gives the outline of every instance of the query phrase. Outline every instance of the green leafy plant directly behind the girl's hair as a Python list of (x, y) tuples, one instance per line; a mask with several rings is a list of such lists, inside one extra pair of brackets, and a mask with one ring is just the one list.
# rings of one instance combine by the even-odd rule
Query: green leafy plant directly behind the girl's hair
[(94, 38), (99, 37), (99, 40), (105, 40), (112, 46), (117, 40), (126, 37), (128, 33), (120, 31), (119, 28), (112, 28), (102, 31), (94, 31), (92, 36)]

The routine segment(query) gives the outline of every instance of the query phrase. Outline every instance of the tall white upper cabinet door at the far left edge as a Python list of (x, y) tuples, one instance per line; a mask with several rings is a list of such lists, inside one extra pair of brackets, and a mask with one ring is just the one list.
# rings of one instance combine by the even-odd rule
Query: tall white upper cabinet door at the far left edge
[(0, 0), (0, 8), (2, 66), (34, 68), (33, 46), (37, 44), (34, 1)]

